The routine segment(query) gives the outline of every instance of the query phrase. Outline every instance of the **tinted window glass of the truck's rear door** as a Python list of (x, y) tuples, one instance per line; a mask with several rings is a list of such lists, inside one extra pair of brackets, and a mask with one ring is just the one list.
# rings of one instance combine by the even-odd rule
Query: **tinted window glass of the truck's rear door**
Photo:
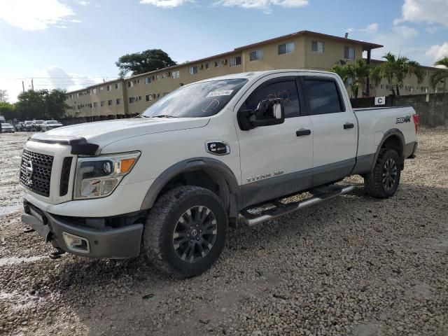
[(309, 102), (309, 114), (344, 111), (339, 90), (334, 80), (304, 80)]

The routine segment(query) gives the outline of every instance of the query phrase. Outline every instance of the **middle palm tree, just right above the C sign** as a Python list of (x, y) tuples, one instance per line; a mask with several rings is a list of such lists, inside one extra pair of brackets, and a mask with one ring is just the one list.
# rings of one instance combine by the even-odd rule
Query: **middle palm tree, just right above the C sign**
[[(395, 56), (393, 53), (388, 52), (383, 56), (386, 61), (379, 65), (381, 68), (381, 77), (386, 78), (387, 83), (391, 86), (393, 95), (400, 96), (400, 90), (398, 86), (402, 85), (406, 77), (411, 77), (413, 75), (417, 78), (417, 83), (423, 81), (423, 69), (421, 68), (419, 62), (411, 61), (405, 56)], [(395, 86), (395, 90), (393, 87)]]

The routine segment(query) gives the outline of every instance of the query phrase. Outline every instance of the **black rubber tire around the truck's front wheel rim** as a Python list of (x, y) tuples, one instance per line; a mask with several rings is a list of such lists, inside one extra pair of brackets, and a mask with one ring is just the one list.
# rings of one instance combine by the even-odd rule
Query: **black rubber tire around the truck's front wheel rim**
[[(173, 235), (179, 218), (192, 207), (207, 207), (216, 218), (216, 239), (207, 255), (196, 262), (181, 260), (174, 248)], [(176, 278), (201, 274), (216, 262), (223, 251), (228, 216), (221, 199), (208, 189), (181, 186), (162, 195), (146, 218), (143, 253), (155, 267)]]

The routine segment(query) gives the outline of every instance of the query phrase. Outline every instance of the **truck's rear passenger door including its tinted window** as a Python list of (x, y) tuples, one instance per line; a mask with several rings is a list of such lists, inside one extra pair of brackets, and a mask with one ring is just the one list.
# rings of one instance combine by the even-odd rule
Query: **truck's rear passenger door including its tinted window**
[(348, 176), (356, 163), (358, 124), (336, 76), (302, 76), (313, 127), (313, 185)]

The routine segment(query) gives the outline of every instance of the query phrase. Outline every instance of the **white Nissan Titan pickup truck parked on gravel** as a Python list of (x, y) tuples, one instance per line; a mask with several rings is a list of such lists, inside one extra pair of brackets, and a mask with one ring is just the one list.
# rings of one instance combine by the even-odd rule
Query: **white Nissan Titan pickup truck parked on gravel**
[[(346, 176), (363, 176), (367, 195), (393, 196), (418, 124), (412, 107), (351, 109), (334, 73), (202, 80), (137, 118), (34, 134), (22, 155), (22, 221), (55, 246), (53, 256), (143, 254), (194, 276), (216, 261), (228, 225), (348, 193), (334, 184)], [(313, 196), (285, 198), (305, 191)]]

